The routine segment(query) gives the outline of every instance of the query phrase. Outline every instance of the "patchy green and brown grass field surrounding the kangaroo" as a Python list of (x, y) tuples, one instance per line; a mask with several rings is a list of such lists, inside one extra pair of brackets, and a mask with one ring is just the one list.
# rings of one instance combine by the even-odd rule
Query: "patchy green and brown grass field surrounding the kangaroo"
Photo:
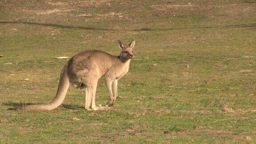
[[(114, 109), (70, 87), (55, 110), (7, 110), (53, 100), (54, 56), (117, 40), (136, 46)], [(0, 143), (256, 143), (255, 0), (0, 0), (0, 55)]]

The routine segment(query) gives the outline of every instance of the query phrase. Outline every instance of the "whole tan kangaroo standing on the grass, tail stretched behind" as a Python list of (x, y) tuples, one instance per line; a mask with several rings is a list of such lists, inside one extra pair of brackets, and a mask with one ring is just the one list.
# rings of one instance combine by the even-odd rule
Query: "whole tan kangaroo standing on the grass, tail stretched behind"
[[(89, 50), (76, 54), (64, 65), (60, 73), (60, 83), (57, 94), (48, 104), (35, 104), (8, 108), (9, 110), (52, 110), (60, 106), (63, 102), (69, 84), (75, 88), (85, 91), (85, 108), (87, 110), (97, 110), (95, 104), (95, 94), (98, 80), (105, 76), (108, 88), (109, 100), (106, 106), (113, 106), (118, 96), (118, 80), (129, 70), (131, 59), (133, 58), (133, 48), (135, 41), (125, 46), (120, 40), (118, 45), (122, 49), (119, 56), (112, 56), (106, 52)], [(112, 92), (112, 87), (114, 93)]]

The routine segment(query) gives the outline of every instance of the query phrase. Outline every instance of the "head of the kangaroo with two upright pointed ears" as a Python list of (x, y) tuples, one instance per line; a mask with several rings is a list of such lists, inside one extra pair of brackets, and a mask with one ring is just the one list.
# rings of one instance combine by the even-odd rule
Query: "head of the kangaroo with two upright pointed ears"
[(118, 40), (119, 48), (122, 49), (122, 52), (120, 53), (120, 58), (122, 60), (128, 60), (132, 59), (133, 57), (133, 48), (135, 45), (135, 40), (133, 40), (128, 46), (125, 46), (120, 40)]

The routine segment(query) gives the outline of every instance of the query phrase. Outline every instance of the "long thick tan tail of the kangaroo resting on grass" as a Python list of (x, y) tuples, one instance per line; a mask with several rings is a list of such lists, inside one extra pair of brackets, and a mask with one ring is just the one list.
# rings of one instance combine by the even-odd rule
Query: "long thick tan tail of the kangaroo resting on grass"
[(68, 63), (64, 66), (64, 68), (62, 69), (62, 71), (60, 73), (60, 83), (59, 83), (58, 91), (57, 91), (57, 94), (56, 94), (54, 100), (52, 100), (51, 103), (19, 106), (19, 107), (14, 107), (14, 108), (8, 108), (8, 110), (20, 109), (20, 110), (27, 110), (27, 111), (31, 111), (31, 110), (49, 111), (49, 110), (55, 109), (58, 106), (60, 106), (60, 104), (63, 102), (63, 100), (67, 94), (68, 87), (70, 84), (69, 77), (68, 77)]

